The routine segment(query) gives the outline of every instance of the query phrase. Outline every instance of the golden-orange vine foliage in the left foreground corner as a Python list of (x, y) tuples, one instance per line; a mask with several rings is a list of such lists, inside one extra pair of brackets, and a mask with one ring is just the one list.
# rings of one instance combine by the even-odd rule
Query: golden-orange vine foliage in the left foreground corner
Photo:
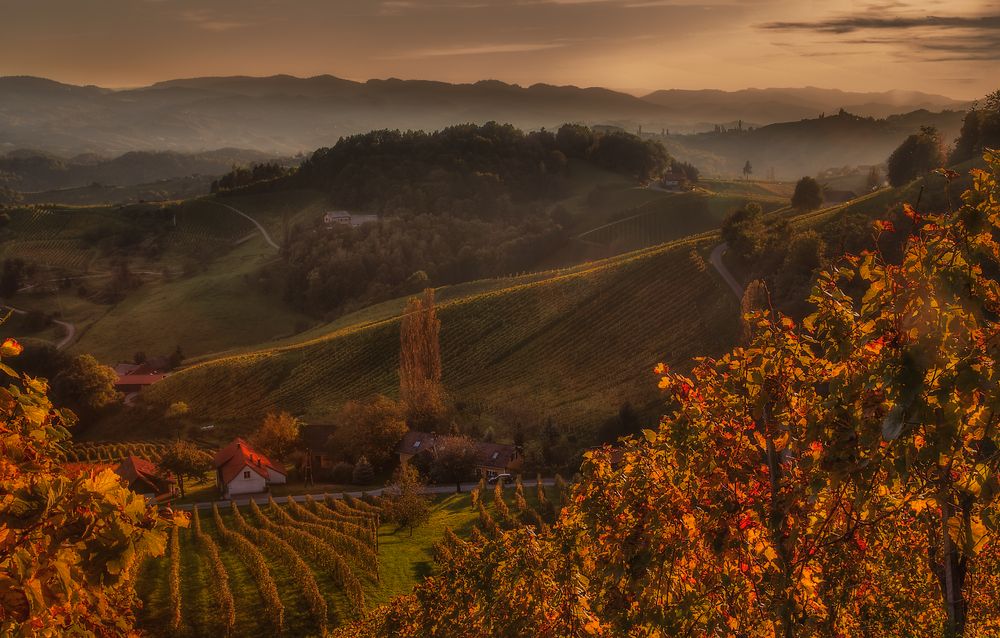
[(160, 556), (178, 515), (161, 516), (109, 469), (71, 473), (72, 413), (55, 408), (44, 381), (8, 364), (21, 346), (0, 345), (0, 634), (135, 635), (135, 575)]

